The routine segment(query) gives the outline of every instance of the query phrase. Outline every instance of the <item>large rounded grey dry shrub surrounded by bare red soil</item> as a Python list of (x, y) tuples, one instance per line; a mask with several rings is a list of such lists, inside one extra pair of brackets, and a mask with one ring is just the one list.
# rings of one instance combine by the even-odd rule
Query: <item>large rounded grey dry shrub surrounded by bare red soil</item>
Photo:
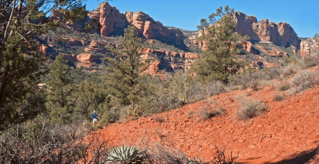
[(240, 99), (239, 105), (241, 106), (241, 110), (235, 111), (235, 117), (238, 120), (246, 120), (261, 115), (267, 109), (267, 105), (265, 105), (262, 100), (252, 98)]

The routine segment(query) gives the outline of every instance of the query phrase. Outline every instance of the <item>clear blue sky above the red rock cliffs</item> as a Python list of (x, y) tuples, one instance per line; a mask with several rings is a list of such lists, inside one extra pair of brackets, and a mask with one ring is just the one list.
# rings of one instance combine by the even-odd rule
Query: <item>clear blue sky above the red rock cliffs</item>
[[(88, 0), (87, 10), (98, 8), (102, 2)], [(164, 26), (183, 30), (197, 30), (201, 18), (228, 5), (235, 11), (256, 16), (258, 22), (267, 18), (270, 22), (289, 23), (299, 37), (313, 37), (319, 33), (318, 0), (116, 0), (108, 3), (120, 13), (140, 10)]]

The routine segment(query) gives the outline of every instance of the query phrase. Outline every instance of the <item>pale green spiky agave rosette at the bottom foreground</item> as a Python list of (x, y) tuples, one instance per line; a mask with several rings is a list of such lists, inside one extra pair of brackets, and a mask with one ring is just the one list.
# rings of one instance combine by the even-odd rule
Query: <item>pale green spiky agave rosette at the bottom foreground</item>
[(121, 162), (128, 164), (140, 164), (142, 163), (143, 154), (135, 146), (119, 146), (110, 150), (108, 153), (108, 160), (113, 162)]

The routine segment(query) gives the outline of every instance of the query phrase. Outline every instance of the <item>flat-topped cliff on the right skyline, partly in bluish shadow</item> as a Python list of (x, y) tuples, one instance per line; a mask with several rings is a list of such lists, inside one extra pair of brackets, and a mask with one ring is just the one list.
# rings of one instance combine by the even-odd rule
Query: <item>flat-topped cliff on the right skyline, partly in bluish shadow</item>
[(255, 16), (247, 16), (241, 12), (234, 12), (233, 18), (237, 23), (236, 31), (250, 36), (251, 40), (272, 42), (285, 47), (292, 45), (299, 48), (299, 37), (288, 23), (274, 23), (267, 19), (257, 22)]

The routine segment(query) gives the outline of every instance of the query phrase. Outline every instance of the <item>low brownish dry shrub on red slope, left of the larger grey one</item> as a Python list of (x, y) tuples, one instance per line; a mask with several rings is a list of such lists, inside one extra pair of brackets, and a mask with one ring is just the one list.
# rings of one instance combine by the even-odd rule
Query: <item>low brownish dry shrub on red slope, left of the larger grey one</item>
[(201, 118), (203, 120), (208, 120), (210, 119), (211, 117), (216, 117), (216, 116), (219, 116), (219, 115), (224, 115), (226, 109), (223, 108), (223, 107), (217, 107), (217, 108), (214, 108), (214, 105), (209, 105), (208, 103), (205, 103), (202, 108), (199, 109), (199, 114), (201, 116)]

